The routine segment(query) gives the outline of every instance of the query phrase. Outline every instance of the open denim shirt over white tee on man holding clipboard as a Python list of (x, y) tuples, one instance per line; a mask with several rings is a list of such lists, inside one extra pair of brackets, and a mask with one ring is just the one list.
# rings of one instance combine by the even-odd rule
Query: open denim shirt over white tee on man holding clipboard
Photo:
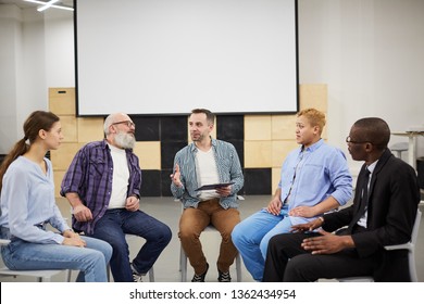
[[(245, 178), (242, 176), (240, 161), (234, 145), (229, 142), (212, 139), (212, 149), (215, 155), (215, 163), (220, 182), (234, 182), (232, 192), (227, 198), (221, 198), (220, 204), (223, 208), (237, 208), (237, 192), (242, 188)], [(179, 165), (182, 188), (171, 182), (171, 191), (175, 199), (183, 202), (184, 207), (197, 207), (199, 204), (199, 191), (196, 172), (196, 153), (198, 149), (195, 143), (179, 150), (174, 159), (175, 165)]]

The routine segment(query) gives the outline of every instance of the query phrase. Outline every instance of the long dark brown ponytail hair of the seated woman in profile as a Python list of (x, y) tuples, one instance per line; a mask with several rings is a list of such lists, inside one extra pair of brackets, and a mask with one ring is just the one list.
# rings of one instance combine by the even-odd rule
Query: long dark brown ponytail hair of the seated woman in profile
[[(59, 117), (55, 114), (45, 111), (35, 111), (26, 118), (24, 138), (15, 143), (0, 165), (0, 191), (3, 187), (4, 173), (10, 164), (29, 150), (30, 144), (38, 138), (39, 130), (49, 131), (57, 122), (59, 122)], [(29, 144), (26, 141), (29, 141)]]

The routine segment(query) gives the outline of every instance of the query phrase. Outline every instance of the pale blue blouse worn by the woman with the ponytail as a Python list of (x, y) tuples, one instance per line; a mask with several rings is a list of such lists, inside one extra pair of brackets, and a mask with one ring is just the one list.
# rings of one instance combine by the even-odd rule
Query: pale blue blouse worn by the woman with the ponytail
[(40, 229), (49, 223), (60, 232), (71, 229), (62, 217), (54, 199), (53, 168), (45, 159), (47, 175), (36, 163), (17, 157), (3, 176), (0, 226), (9, 228), (12, 237), (33, 243), (62, 243), (63, 237)]

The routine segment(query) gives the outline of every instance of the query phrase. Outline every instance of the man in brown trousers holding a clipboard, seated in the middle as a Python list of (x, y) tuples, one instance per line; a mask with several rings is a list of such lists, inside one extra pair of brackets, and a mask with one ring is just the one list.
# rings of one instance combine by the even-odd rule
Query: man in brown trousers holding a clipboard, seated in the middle
[[(178, 237), (195, 269), (192, 282), (204, 282), (209, 269), (199, 240), (207, 226), (213, 225), (222, 236), (216, 263), (220, 282), (232, 280), (229, 266), (237, 255), (230, 235), (240, 221), (237, 192), (244, 186), (244, 176), (234, 145), (211, 138), (214, 118), (209, 110), (191, 111), (188, 124), (192, 142), (176, 153), (171, 175), (171, 191), (184, 206)], [(219, 186), (198, 190), (207, 185)]]

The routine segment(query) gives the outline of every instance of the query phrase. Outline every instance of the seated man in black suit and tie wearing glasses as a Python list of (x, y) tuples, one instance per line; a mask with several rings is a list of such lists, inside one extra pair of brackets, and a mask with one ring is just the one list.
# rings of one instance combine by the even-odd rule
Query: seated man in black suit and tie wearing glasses
[(356, 276), (410, 281), (408, 252), (385, 251), (384, 246), (410, 241), (420, 189), (414, 169), (387, 148), (389, 139), (390, 129), (381, 118), (362, 118), (353, 124), (346, 139), (348, 150), (353, 160), (365, 162), (353, 204), (294, 226), (298, 233), (273, 237), (263, 281)]

